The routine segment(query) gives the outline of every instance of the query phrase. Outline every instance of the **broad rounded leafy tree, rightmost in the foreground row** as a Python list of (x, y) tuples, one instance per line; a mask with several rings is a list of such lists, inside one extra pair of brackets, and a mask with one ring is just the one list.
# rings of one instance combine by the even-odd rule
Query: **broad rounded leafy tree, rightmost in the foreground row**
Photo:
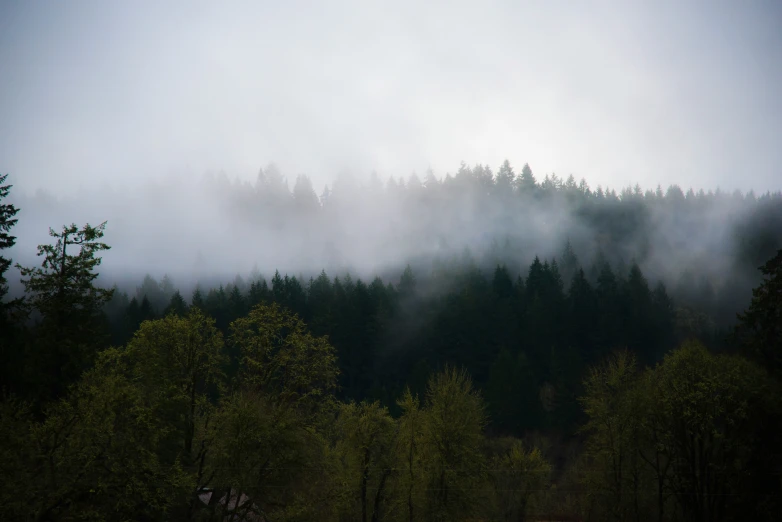
[(779, 495), (779, 482), (767, 480), (779, 461), (764, 448), (778, 440), (780, 413), (765, 372), (690, 342), (666, 355), (655, 378), (665, 427), (660, 443), (685, 517), (765, 519), (764, 504)]

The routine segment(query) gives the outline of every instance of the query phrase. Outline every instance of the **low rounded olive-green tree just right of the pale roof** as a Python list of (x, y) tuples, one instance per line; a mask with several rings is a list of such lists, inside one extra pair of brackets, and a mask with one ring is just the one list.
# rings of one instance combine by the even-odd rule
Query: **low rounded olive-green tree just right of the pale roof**
[(213, 500), (252, 500), (213, 504), (207, 511), (311, 520), (328, 506), (330, 496), (322, 495), (330, 478), (323, 473), (325, 441), (305, 420), (273, 395), (243, 390), (227, 397), (205, 427), (209, 451), (199, 485), (215, 492)]

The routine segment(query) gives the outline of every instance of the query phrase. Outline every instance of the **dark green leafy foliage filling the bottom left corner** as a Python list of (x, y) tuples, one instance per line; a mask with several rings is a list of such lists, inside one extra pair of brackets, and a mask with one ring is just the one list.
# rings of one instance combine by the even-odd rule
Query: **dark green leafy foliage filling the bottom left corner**
[(6, 519), (167, 520), (193, 486), (159, 456), (169, 427), (110, 364), (99, 362), (43, 421), (15, 401), (3, 410)]

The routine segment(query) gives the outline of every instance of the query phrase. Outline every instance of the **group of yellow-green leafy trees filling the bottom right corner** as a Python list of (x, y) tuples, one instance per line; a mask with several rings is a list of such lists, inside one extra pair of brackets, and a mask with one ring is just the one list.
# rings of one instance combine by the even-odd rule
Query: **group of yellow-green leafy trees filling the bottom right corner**
[(582, 482), (601, 519), (770, 520), (780, 404), (768, 376), (737, 356), (688, 342), (639, 373), (619, 352), (594, 369)]

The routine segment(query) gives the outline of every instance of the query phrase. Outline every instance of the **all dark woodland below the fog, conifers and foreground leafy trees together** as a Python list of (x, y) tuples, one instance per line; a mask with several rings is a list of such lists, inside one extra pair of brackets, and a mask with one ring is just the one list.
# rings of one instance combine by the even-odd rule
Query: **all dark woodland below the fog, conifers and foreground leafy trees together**
[(276, 273), (186, 300), (170, 278), (99, 288), (104, 232), (51, 230), (24, 299), (0, 301), (2, 518), (782, 509), (782, 250), (720, 341), (637, 264), (585, 271), (570, 246), (515, 278), (465, 255), (396, 285)]

